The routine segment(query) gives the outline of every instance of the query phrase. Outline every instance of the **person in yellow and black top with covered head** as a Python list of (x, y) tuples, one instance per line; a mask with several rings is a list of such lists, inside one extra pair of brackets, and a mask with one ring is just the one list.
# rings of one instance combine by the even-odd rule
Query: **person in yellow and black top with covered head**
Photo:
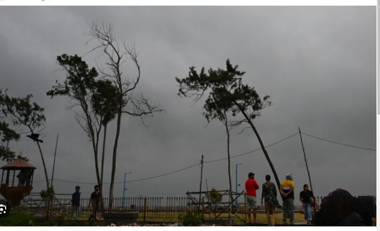
[(290, 224), (294, 224), (294, 182), (293, 176), (290, 173), (285, 175), (285, 180), (281, 183), (280, 193), (283, 200), (282, 210), (283, 219), (282, 223), (286, 224), (286, 219), (289, 218)]

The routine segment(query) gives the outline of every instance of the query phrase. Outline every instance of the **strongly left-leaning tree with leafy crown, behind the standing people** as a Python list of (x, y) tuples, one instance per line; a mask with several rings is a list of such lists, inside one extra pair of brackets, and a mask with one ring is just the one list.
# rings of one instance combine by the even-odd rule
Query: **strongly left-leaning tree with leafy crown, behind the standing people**
[[(195, 103), (202, 98), (206, 90), (211, 89), (209, 99), (213, 102), (213, 110), (218, 113), (228, 111), (235, 118), (230, 122), (230, 126), (237, 127), (241, 124), (248, 123), (254, 131), (265, 158), (272, 169), (278, 188), (280, 180), (277, 176), (275, 167), (272, 164), (261, 137), (253, 124), (253, 120), (261, 115), (261, 110), (272, 105), (269, 96), (262, 99), (257, 94), (254, 87), (242, 83), (242, 77), (245, 72), (237, 70), (238, 66), (233, 66), (230, 60), (226, 62), (226, 70), (210, 68), (208, 73), (203, 67), (200, 73), (197, 73), (195, 67), (190, 67), (189, 76), (183, 79), (175, 78), (180, 84), (178, 96), (192, 97)], [(239, 115), (239, 117), (238, 117)], [(242, 117), (241, 117), (242, 116)]]

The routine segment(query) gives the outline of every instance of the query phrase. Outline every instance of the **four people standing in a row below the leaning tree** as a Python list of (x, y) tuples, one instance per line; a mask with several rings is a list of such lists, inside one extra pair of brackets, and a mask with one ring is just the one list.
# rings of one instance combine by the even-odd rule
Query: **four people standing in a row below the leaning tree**
[[(249, 173), (248, 180), (245, 182), (245, 191), (247, 191), (246, 201), (248, 209), (248, 223), (252, 223), (251, 212), (253, 213), (253, 223), (257, 223), (256, 190), (259, 188), (260, 187), (255, 180), (255, 174), (252, 172)], [(271, 182), (270, 175), (265, 176), (265, 183), (262, 184), (261, 205), (265, 205), (266, 218), (269, 226), (275, 225), (276, 207), (283, 210), (283, 224), (287, 224), (287, 219), (289, 219), (290, 224), (294, 224), (294, 189), (295, 185), (292, 174), (288, 173), (285, 175), (285, 180), (280, 186), (280, 194), (283, 200), (281, 206), (277, 200), (276, 185)], [(311, 224), (311, 207), (315, 205), (314, 201), (316, 198), (309, 190), (307, 184), (304, 184), (303, 190), (300, 192), (299, 199), (303, 205), (305, 220), (307, 220), (308, 224)]]

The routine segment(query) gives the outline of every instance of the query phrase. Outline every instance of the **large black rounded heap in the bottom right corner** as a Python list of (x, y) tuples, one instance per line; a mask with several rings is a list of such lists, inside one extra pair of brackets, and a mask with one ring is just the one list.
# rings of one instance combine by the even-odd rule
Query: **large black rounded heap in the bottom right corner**
[(365, 197), (353, 197), (346, 190), (333, 191), (316, 213), (317, 226), (371, 226), (375, 206), (366, 206)]

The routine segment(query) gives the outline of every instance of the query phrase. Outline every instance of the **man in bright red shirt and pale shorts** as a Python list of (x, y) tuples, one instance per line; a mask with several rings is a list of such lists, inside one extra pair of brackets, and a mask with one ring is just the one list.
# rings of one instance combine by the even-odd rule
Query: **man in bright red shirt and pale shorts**
[(255, 174), (250, 172), (248, 174), (248, 180), (245, 181), (245, 191), (247, 191), (247, 207), (248, 207), (248, 223), (252, 223), (251, 220), (251, 211), (253, 212), (253, 223), (257, 223), (256, 221), (256, 190), (259, 189), (259, 185), (255, 180)]

